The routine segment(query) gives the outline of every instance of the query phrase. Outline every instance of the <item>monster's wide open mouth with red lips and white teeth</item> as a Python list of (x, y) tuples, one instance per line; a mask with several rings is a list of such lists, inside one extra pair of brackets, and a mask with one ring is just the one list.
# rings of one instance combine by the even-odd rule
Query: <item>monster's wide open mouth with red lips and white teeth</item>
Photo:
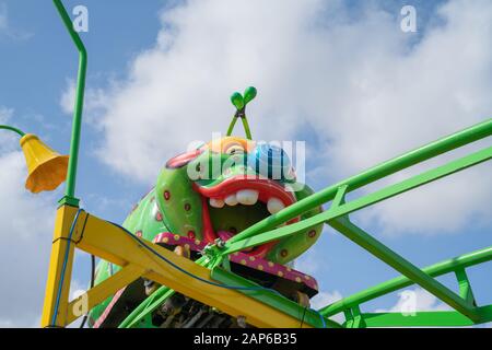
[[(208, 242), (225, 242), (296, 200), (277, 182), (253, 175), (233, 176), (213, 187), (195, 183), (194, 189), (201, 195), (203, 236)], [(298, 218), (286, 224), (296, 221)], [(243, 253), (265, 257), (276, 244), (270, 242)]]

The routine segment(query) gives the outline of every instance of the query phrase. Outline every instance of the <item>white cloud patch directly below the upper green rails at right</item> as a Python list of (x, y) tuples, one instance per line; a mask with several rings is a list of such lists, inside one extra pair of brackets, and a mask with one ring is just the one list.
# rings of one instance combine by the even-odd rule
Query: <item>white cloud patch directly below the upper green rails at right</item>
[[(364, 224), (376, 222), (387, 236), (406, 233), (458, 233), (472, 220), (475, 225), (491, 223), (492, 164), (454, 174), (425, 185), (363, 212)], [(398, 176), (403, 179), (402, 176)]]

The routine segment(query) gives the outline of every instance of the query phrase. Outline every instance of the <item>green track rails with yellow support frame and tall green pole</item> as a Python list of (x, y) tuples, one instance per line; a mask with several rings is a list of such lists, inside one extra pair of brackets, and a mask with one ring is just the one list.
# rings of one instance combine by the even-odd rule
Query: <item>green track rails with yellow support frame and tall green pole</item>
[[(86, 307), (84, 308), (90, 310), (141, 277), (153, 280), (163, 287), (136, 307), (120, 324), (120, 328), (151, 327), (152, 312), (175, 292), (215, 307), (233, 317), (242, 316), (248, 324), (256, 327), (470, 326), (492, 320), (492, 305), (477, 305), (467, 276), (468, 268), (492, 259), (492, 246), (430, 267), (419, 268), (350, 221), (350, 214), (361, 209), (489, 161), (492, 158), (492, 147), (453, 160), (356, 199), (345, 200), (347, 195), (355, 189), (490, 137), (492, 119), (487, 119), (468, 129), (423, 145), (313, 194), (261, 220), (224, 243), (218, 242), (209, 245), (201, 258), (191, 261), (79, 208), (74, 188), (87, 56), (61, 0), (54, 0), (54, 3), (79, 50), (80, 66), (67, 189), (66, 196), (60, 200), (56, 219), (42, 317), (43, 327), (65, 327), (71, 324), (83, 316), (83, 313), (80, 312), (82, 303), (85, 303)], [(10, 129), (23, 136), (22, 131), (13, 130), (12, 127), (0, 126), (0, 128)], [(330, 203), (327, 211), (278, 228), (325, 203)], [(227, 257), (231, 254), (291, 236), (319, 223), (330, 225), (367, 253), (400, 272), (401, 276), (314, 311), (294, 303), (276, 291), (234, 275), (229, 269)], [(75, 248), (116, 264), (122, 269), (91, 288), (86, 294), (69, 302), (68, 294)], [(456, 276), (458, 293), (435, 279), (448, 273)], [(453, 310), (417, 312), (413, 317), (406, 317), (400, 313), (364, 313), (362, 311), (364, 303), (412, 284), (425, 289)], [(338, 313), (344, 314), (345, 322), (343, 324), (330, 319)]]

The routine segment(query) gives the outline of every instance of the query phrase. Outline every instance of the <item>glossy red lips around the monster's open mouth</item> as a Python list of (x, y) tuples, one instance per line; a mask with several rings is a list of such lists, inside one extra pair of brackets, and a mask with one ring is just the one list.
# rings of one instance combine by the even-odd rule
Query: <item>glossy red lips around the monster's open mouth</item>
[[(277, 184), (274, 180), (268, 178), (258, 178), (258, 176), (245, 176), (237, 175), (223, 180), (221, 184), (213, 187), (201, 187), (194, 183), (194, 189), (202, 196), (202, 223), (203, 223), (203, 238), (208, 243), (214, 242), (219, 238), (219, 234), (214, 232), (212, 222), (210, 220), (209, 207), (207, 203), (207, 198), (218, 198), (224, 199), (231, 194), (235, 194), (242, 189), (255, 189), (258, 190), (258, 199), (262, 202), (268, 202), (271, 197), (280, 199), (285, 207), (295, 202), (295, 197), (286, 191), (281, 185)], [(298, 218), (292, 219), (289, 223), (298, 221)], [(227, 236), (224, 233), (221, 234), (222, 237)], [(232, 234), (229, 234), (232, 236)], [(243, 252), (254, 257), (265, 257), (268, 252), (277, 244), (277, 242), (269, 242), (261, 246), (254, 248), (250, 252)]]

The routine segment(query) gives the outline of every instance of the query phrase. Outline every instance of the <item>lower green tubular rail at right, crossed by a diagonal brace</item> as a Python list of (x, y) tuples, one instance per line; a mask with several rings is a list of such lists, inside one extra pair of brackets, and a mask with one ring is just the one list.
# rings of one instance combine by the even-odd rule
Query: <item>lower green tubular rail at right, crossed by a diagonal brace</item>
[[(468, 267), (480, 265), (490, 260), (492, 260), (492, 246), (469, 254), (465, 254), (445, 261), (441, 261), (438, 264), (423, 268), (422, 271), (425, 272), (427, 276), (438, 277), (454, 272), (455, 270), (466, 269)], [(400, 276), (391, 280), (388, 280), (384, 283), (377, 284), (373, 288), (370, 288), (367, 290), (347, 296), (338, 302), (335, 302), (321, 308), (319, 312), (325, 317), (331, 317), (340, 312), (349, 310), (352, 306), (360, 305), (362, 303), (393, 293), (395, 291), (401, 290), (412, 284), (414, 284), (414, 281), (409, 279), (408, 277)]]

